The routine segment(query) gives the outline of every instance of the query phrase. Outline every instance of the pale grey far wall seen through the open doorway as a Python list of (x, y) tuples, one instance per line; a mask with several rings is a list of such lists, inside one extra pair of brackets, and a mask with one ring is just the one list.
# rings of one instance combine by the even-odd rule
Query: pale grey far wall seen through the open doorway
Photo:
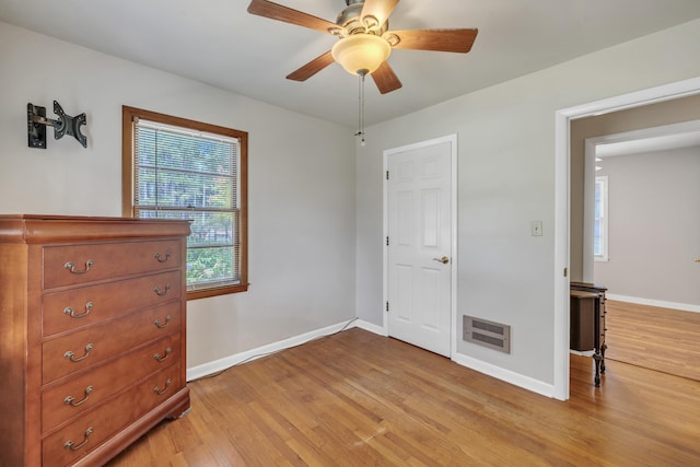
[(610, 260), (594, 264), (610, 295), (700, 308), (700, 147), (605, 157)]

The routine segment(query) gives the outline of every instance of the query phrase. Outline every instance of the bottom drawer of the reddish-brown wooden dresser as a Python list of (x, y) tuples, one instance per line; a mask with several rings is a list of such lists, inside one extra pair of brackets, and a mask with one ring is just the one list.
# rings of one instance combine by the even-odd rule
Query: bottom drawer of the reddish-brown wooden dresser
[(43, 465), (74, 463), (179, 390), (179, 364), (171, 365), (51, 433), (42, 442)]

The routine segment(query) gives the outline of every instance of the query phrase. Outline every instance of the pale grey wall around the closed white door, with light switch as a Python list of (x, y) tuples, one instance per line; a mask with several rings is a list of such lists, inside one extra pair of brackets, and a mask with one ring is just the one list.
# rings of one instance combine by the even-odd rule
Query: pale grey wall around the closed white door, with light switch
[[(382, 152), (457, 133), (457, 311), (510, 324), (512, 353), (459, 341), (454, 357), (551, 394), (562, 313), (552, 304), (556, 110), (698, 77), (699, 56), (695, 21), (369, 128), (357, 168), (359, 317), (383, 322)], [(542, 236), (530, 236), (533, 220)]]

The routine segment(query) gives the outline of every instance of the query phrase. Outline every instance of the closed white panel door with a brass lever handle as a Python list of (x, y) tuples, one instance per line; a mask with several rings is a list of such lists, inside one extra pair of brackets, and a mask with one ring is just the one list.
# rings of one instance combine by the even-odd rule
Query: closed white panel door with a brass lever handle
[(452, 340), (452, 144), (387, 155), (389, 336), (446, 357)]

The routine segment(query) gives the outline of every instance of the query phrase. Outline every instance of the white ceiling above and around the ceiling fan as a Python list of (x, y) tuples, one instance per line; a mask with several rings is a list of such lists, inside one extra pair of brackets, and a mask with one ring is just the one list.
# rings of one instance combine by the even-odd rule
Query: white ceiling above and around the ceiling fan
[[(334, 63), (284, 79), (336, 40), (254, 16), (249, 0), (0, 0), (0, 21), (348, 126), (358, 81)], [(279, 0), (335, 22), (343, 0)], [(402, 0), (393, 30), (478, 27), (467, 55), (394, 50), (404, 87), (366, 82), (366, 124), (700, 17), (700, 0)], [(32, 59), (40, 59), (32, 57)], [(50, 70), (46, 70), (50, 73)]]

